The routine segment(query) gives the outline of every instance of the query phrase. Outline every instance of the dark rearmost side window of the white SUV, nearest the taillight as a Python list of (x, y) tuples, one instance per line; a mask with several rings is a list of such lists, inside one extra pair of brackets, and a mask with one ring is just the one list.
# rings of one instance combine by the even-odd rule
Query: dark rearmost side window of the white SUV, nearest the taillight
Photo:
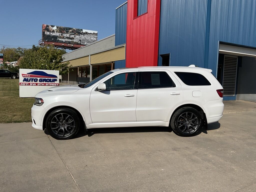
[(175, 72), (175, 74), (185, 83), (190, 86), (211, 85), (211, 83), (199, 73)]

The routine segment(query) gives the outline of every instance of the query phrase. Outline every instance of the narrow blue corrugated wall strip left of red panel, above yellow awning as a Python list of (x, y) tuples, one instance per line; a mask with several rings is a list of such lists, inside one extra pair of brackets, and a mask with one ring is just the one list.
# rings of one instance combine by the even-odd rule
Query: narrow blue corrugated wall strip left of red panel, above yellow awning
[(126, 43), (127, 3), (115, 11), (115, 46)]

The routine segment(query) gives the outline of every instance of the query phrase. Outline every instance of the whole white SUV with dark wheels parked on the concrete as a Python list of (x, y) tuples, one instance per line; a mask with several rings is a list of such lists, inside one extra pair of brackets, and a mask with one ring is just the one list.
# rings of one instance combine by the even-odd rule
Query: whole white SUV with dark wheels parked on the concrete
[(180, 136), (221, 119), (223, 88), (210, 69), (138, 67), (109, 71), (87, 84), (35, 96), (32, 126), (69, 139), (80, 128), (170, 126)]

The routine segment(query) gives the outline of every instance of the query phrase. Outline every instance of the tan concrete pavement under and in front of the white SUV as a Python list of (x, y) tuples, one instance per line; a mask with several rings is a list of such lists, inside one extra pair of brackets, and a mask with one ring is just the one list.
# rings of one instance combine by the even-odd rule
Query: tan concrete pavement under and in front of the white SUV
[(94, 129), (55, 140), (0, 124), (0, 191), (256, 191), (256, 103), (226, 101), (194, 137), (168, 128)]

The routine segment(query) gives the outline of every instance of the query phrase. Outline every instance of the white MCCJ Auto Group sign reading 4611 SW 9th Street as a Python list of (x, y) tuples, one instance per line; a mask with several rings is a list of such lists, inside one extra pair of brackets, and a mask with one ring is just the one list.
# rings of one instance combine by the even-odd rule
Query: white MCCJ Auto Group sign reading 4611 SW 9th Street
[(54, 86), (59, 86), (59, 71), (19, 69), (19, 97), (35, 97)]

